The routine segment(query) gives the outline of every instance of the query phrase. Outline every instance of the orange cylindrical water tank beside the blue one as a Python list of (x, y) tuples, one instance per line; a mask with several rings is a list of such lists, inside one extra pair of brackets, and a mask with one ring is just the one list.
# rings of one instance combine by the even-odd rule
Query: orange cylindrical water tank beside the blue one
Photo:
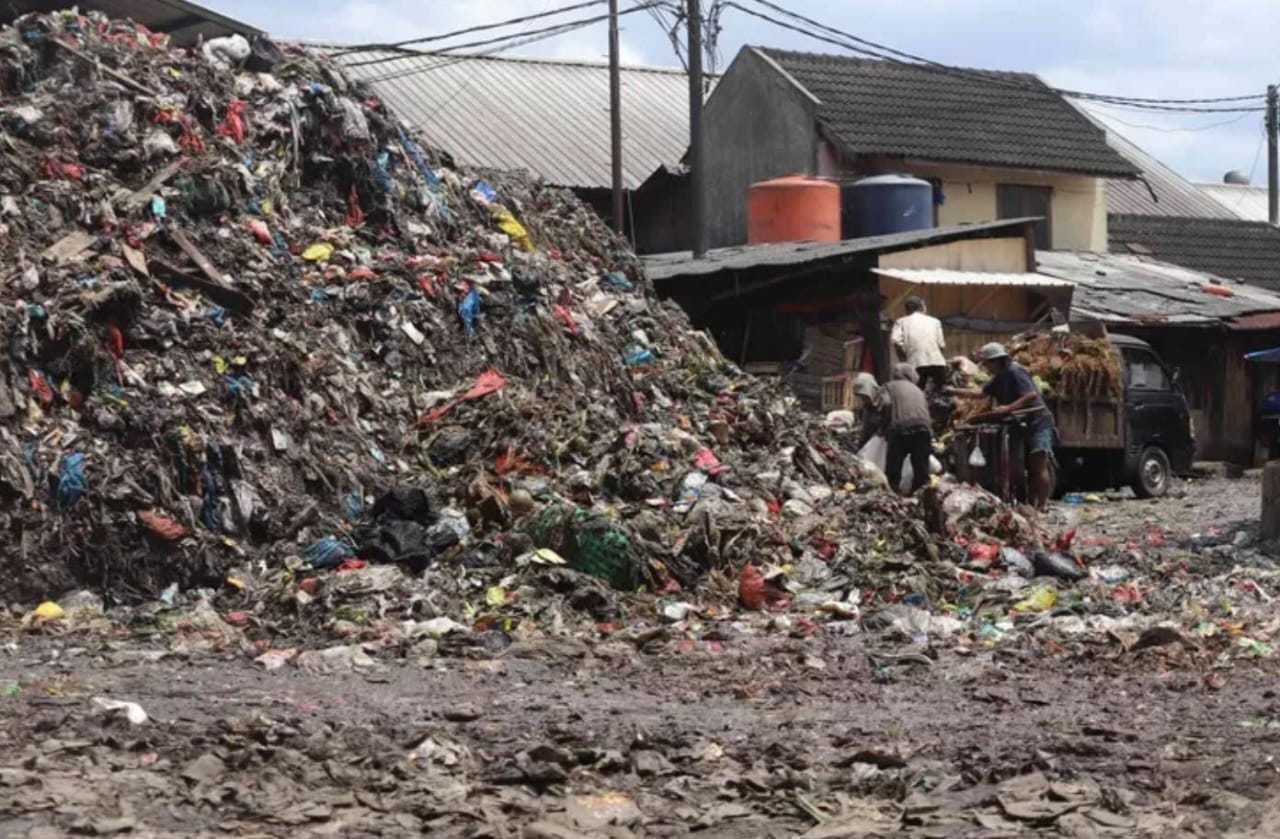
[(746, 241), (838, 242), (840, 186), (803, 174), (753, 183), (746, 192)]

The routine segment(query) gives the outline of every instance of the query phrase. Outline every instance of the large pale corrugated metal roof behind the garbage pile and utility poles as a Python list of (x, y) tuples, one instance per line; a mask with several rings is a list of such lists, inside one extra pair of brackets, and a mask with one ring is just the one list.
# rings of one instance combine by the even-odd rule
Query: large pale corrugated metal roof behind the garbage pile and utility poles
[[(389, 51), (335, 58), (460, 164), (526, 169), (562, 187), (613, 183), (608, 64)], [(623, 67), (626, 188), (680, 163), (687, 146), (685, 73)]]

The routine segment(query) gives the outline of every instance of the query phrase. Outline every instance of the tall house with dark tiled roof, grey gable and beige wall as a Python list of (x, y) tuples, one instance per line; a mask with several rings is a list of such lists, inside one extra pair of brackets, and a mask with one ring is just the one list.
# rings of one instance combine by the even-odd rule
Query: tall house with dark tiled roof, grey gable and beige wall
[(1041, 216), (1039, 247), (1106, 248), (1106, 178), (1135, 167), (1036, 76), (744, 47), (704, 110), (713, 247), (746, 241), (751, 183), (905, 172), (940, 227)]

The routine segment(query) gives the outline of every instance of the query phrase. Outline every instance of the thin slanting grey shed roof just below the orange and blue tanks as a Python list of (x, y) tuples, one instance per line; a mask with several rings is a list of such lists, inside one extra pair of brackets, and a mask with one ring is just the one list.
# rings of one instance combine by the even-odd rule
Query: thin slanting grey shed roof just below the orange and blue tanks
[(982, 224), (932, 227), (923, 231), (869, 236), (845, 240), (842, 242), (780, 242), (774, 245), (719, 247), (708, 251), (703, 259), (694, 259), (694, 255), (689, 251), (654, 254), (652, 256), (641, 256), (640, 259), (644, 261), (645, 273), (650, 279), (663, 281), (675, 277), (703, 277), (726, 270), (748, 270), (769, 265), (805, 265), (869, 251), (887, 251), (943, 240), (961, 240), (977, 233), (1012, 229), (1038, 220), (1038, 218), (1025, 218), (984, 222)]

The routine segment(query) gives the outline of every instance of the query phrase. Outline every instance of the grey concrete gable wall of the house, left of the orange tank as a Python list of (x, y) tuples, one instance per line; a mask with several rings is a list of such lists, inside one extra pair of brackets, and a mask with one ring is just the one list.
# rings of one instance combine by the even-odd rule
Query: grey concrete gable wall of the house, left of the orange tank
[(712, 247), (746, 242), (746, 191), (756, 181), (817, 170), (817, 104), (773, 64), (744, 49), (703, 110)]

